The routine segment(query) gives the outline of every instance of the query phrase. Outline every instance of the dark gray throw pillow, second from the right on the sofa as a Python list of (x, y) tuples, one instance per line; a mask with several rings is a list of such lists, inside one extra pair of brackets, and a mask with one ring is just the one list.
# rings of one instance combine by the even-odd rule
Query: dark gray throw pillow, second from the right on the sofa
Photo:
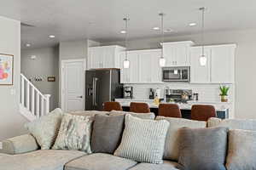
[(180, 129), (182, 170), (225, 170), (227, 127)]

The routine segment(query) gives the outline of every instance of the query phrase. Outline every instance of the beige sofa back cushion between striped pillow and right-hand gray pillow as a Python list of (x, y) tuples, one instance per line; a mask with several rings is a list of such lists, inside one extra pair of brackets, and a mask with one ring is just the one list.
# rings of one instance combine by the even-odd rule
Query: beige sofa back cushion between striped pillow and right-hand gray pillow
[(173, 118), (165, 116), (157, 116), (156, 120), (166, 120), (170, 122), (170, 126), (166, 135), (166, 146), (164, 159), (177, 161), (179, 156), (180, 134), (179, 129), (182, 127), (203, 128), (207, 127), (207, 122), (191, 121), (182, 118)]

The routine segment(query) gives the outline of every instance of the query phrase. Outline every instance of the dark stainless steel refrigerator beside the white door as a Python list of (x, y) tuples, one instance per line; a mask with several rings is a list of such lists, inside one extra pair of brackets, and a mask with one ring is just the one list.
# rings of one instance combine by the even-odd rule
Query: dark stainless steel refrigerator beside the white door
[(105, 101), (122, 98), (123, 85), (117, 69), (91, 70), (85, 72), (85, 110), (102, 111)]

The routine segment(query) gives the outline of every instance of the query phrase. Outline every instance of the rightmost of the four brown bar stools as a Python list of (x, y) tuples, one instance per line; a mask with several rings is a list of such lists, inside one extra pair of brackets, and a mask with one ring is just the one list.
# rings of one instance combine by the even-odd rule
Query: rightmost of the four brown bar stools
[(217, 117), (212, 105), (192, 105), (191, 119), (196, 121), (208, 121), (211, 117)]

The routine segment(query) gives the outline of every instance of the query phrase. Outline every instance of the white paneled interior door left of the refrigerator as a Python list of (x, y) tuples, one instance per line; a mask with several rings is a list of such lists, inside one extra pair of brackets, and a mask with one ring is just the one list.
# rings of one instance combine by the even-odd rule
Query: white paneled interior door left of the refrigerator
[(84, 111), (84, 59), (62, 61), (62, 102), (64, 111)]

